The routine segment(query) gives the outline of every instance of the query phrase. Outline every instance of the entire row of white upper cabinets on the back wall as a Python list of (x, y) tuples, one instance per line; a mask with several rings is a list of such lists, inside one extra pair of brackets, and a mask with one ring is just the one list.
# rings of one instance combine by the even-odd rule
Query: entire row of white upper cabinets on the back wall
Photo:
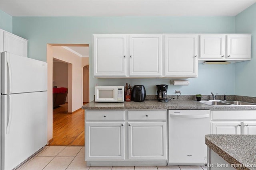
[(95, 78), (193, 78), (198, 62), (250, 58), (251, 34), (93, 35)]

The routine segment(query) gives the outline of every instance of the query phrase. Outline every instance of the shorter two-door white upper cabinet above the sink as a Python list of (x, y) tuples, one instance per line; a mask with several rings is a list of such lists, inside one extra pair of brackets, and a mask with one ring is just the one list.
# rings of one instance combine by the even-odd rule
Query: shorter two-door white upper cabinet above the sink
[(251, 34), (202, 34), (200, 35), (199, 62), (251, 59)]

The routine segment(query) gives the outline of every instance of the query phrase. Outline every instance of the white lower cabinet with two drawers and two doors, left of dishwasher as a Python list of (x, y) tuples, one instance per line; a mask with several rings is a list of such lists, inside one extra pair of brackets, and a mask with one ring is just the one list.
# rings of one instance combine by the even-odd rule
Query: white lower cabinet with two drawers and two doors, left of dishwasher
[(86, 110), (86, 161), (166, 161), (167, 110)]

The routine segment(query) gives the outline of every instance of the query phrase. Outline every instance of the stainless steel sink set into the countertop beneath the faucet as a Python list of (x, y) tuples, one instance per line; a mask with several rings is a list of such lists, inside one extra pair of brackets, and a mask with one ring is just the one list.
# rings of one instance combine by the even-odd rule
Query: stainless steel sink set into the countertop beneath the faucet
[(207, 104), (210, 106), (248, 106), (256, 105), (249, 102), (240, 102), (240, 101), (200, 101), (202, 104)]

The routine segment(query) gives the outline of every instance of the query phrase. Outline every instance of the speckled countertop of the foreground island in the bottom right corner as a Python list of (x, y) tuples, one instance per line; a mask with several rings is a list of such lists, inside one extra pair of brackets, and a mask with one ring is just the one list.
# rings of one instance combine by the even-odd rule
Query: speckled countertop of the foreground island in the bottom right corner
[[(256, 135), (205, 135), (205, 144), (238, 170), (256, 170)], [(250, 167), (249, 167), (250, 166)]]

